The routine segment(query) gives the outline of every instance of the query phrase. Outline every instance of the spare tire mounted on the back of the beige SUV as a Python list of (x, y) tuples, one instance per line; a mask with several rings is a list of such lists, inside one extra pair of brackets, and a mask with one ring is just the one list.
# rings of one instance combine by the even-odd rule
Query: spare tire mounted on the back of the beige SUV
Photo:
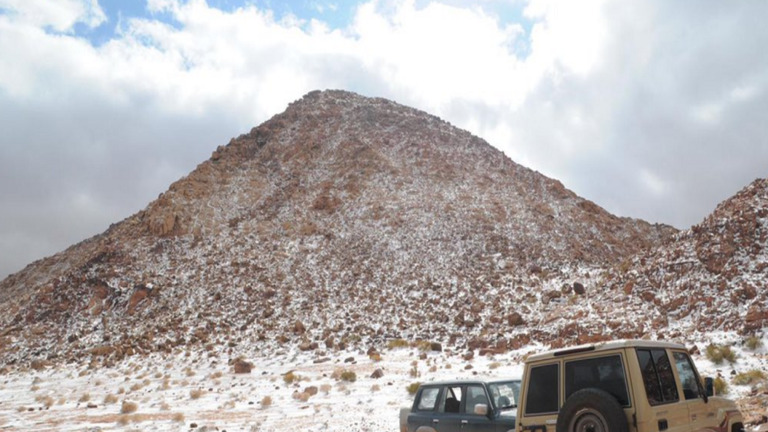
[(629, 432), (624, 409), (610, 393), (579, 390), (565, 401), (557, 416), (557, 432)]

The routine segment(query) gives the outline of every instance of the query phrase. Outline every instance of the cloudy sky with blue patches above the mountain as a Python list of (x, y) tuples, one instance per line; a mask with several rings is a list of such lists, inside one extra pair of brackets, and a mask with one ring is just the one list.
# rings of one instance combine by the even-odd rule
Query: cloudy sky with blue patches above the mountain
[(685, 229), (768, 174), (768, 2), (0, 0), (0, 279), (315, 89)]

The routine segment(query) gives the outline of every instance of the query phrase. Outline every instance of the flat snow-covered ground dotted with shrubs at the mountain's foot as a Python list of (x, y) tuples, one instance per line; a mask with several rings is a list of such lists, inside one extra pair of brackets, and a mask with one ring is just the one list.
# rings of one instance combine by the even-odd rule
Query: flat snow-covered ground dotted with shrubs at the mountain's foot
[[(711, 336), (723, 343), (735, 337)], [(765, 371), (766, 343), (757, 351), (736, 348), (734, 365), (715, 365), (703, 354), (695, 360), (706, 376)], [(705, 345), (698, 347), (704, 351)], [(229, 357), (215, 351), (133, 357), (109, 368), (90, 369), (84, 362), (11, 370), (0, 375), (0, 431), (396, 432), (400, 408), (412, 401), (409, 384), (518, 378), (525, 354), (544, 349), (469, 360), (466, 352), (418, 348), (387, 349), (380, 360), (362, 351), (322, 358), (278, 351), (257, 359), (251, 353), (244, 355), (254, 365), (247, 374), (234, 373)], [(383, 376), (371, 377), (377, 369)], [(732, 397), (749, 393), (748, 386), (730, 388)], [(135, 411), (121, 412), (131, 404)]]

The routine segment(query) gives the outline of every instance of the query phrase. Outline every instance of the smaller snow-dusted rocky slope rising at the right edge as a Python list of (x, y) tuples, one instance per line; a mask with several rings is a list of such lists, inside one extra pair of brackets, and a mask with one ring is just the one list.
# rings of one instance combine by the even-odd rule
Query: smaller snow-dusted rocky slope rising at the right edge
[(611, 286), (688, 331), (768, 326), (768, 179), (722, 202), (664, 247), (625, 263)]

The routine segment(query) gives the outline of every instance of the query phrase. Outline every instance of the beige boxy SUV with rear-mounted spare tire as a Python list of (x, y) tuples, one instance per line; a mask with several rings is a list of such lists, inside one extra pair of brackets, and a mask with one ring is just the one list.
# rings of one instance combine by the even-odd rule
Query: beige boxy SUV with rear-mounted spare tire
[[(644, 340), (548, 351), (525, 361), (518, 432), (741, 432), (683, 345)], [(709, 390), (707, 390), (709, 389)]]

